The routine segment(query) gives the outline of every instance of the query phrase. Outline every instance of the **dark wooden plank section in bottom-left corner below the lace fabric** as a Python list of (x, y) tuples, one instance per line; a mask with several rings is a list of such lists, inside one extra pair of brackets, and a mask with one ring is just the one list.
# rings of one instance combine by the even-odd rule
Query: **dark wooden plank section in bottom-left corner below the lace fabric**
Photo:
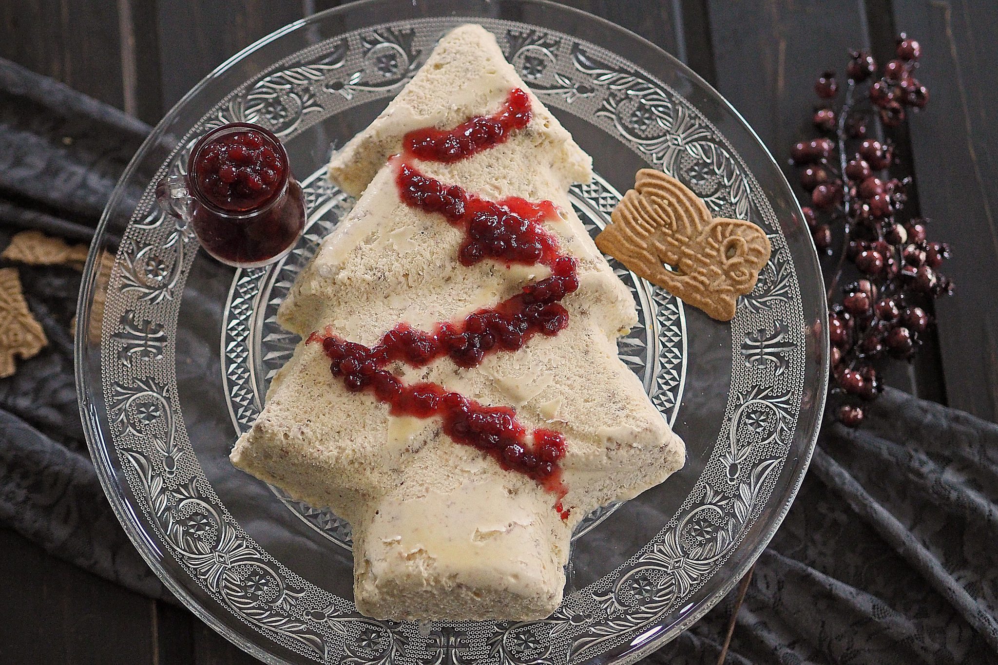
[(0, 662), (156, 663), (155, 603), (0, 528)]

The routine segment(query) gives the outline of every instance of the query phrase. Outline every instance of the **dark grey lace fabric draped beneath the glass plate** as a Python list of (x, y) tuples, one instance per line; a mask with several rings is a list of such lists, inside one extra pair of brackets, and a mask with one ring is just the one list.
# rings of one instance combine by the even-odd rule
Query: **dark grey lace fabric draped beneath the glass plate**
[[(0, 60), (0, 248), (86, 241), (149, 128)], [(177, 602), (128, 540), (87, 456), (70, 320), (80, 274), (18, 266), (49, 346), (0, 380), (0, 526)], [(717, 661), (734, 593), (647, 661)], [(755, 564), (728, 663), (998, 663), (998, 426), (888, 390), (827, 426)]]

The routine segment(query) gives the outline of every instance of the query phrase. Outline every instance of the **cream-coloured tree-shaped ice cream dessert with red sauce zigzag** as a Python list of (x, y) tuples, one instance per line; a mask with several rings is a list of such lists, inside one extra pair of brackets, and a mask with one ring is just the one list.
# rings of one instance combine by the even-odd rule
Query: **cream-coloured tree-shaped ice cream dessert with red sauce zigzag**
[(634, 301), (568, 198), (590, 159), (467, 25), (329, 174), (360, 196), (233, 463), (350, 522), (365, 614), (547, 616), (579, 519), (685, 457), (617, 357)]

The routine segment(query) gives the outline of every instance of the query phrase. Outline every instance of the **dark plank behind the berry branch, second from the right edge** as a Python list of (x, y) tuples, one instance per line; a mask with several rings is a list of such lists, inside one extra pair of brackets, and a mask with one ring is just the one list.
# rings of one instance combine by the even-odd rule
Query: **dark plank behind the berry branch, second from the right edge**
[[(717, 88), (739, 110), (781, 166), (798, 197), (806, 200), (790, 145), (814, 136), (810, 116), (817, 99), (814, 80), (826, 67), (841, 74), (850, 48), (892, 50), (893, 27), (884, 20), (886, 0), (708, 0)], [(869, 19), (867, 21), (867, 19)], [(750, 54), (750, 56), (749, 56)], [(906, 152), (904, 128), (893, 133)], [(905, 174), (913, 174), (911, 172)], [(917, 207), (917, 191), (912, 205)], [(829, 272), (834, 265), (822, 261)], [(936, 337), (926, 336), (911, 365), (891, 363), (885, 380), (925, 399), (945, 402)]]

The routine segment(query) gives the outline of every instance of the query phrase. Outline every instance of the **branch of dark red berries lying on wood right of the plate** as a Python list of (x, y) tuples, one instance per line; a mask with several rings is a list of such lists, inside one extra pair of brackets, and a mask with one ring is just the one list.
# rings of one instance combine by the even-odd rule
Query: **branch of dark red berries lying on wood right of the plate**
[[(910, 360), (921, 344), (930, 323), (928, 301), (953, 289), (938, 272), (949, 246), (929, 242), (926, 220), (905, 208), (911, 178), (893, 176), (898, 166), (893, 145), (868, 137), (877, 123), (889, 131), (904, 122), (906, 112), (928, 102), (928, 90), (914, 76), (918, 42), (902, 33), (895, 55), (876, 78), (873, 57), (852, 51), (841, 95), (833, 71), (818, 77), (814, 92), (821, 102), (812, 121), (822, 136), (790, 151), (810, 195), (802, 210), (814, 245), (833, 253), (832, 229), (841, 229), (827, 291), (828, 405), (852, 427), (863, 420), (863, 403), (883, 390), (883, 364), (889, 358)], [(839, 288), (843, 275), (857, 279)]]

